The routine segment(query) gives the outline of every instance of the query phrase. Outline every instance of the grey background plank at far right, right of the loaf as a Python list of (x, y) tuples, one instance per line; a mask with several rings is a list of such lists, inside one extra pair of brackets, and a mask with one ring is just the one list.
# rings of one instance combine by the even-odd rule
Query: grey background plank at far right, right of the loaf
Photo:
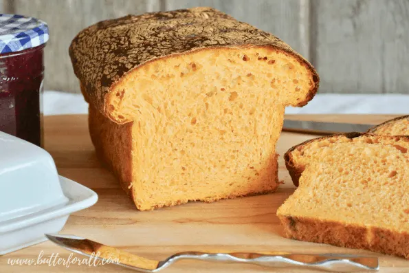
[(408, 94), (408, 0), (311, 4), (311, 61), (320, 91)]

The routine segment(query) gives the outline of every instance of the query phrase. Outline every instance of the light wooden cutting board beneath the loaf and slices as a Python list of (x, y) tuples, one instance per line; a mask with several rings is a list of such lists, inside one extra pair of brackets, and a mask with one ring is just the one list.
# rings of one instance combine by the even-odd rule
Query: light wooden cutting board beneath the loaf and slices
[[(303, 120), (361, 122), (377, 124), (394, 116), (291, 116)], [(289, 118), (289, 116), (287, 116)], [(283, 132), (278, 153), (316, 135)], [(280, 189), (270, 195), (217, 201), (192, 202), (182, 206), (140, 212), (118, 186), (118, 182), (96, 158), (87, 130), (87, 116), (45, 117), (45, 149), (54, 157), (60, 175), (73, 179), (99, 195), (96, 205), (69, 217), (61, 233), (76, 234), (115, 246), (150, 259), (164, 259), (187, 250), (230, 250), (234, 252), (360, 253), (331, 245), (305, 243), (283, 238), (276, 210), (294, 192), (294, 186), (280, 157)], [(0, 242), (1, 243), (1, 242)], [(131, 272), (115, 265), (9, 265), (9, 259), (34, 259), (53, 253), (67, 259), (70, 252), (50, 242), (0, 256), (0, 272)], [(380, 255), (380, 272), (409, 272), (409, 261)], [(82, 259), (75, 254), (74, 257)], [(164, 272), (311, 272), (256, 265), (226, 265), (181, 261)]]

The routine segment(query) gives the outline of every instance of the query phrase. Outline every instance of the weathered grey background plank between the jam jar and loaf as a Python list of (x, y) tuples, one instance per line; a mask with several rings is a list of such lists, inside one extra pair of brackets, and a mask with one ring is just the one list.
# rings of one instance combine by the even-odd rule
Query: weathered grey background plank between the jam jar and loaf
[(12, 12), (47, 22), (45, 89), (80, 93), (68, 47), (80, 30), (98, 21), (160, 10), (159, 0), (5, 0)]

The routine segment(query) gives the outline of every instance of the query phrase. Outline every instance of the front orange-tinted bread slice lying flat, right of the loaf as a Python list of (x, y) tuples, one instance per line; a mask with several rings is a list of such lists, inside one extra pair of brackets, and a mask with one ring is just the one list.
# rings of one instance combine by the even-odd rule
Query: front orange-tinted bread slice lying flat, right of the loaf
[(277, 215), (285, 237), (409, 259), (409, 138), (350, 133), (286, 153), (298, 188)]

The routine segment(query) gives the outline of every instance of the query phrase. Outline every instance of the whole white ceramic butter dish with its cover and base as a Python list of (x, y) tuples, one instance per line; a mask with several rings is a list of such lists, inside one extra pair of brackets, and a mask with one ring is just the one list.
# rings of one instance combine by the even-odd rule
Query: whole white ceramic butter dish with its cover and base
[(45, 150), (0, 132), (0, 255), (46, 241), (72, 212), (88, 208), (93, 190), (58, 175)]

